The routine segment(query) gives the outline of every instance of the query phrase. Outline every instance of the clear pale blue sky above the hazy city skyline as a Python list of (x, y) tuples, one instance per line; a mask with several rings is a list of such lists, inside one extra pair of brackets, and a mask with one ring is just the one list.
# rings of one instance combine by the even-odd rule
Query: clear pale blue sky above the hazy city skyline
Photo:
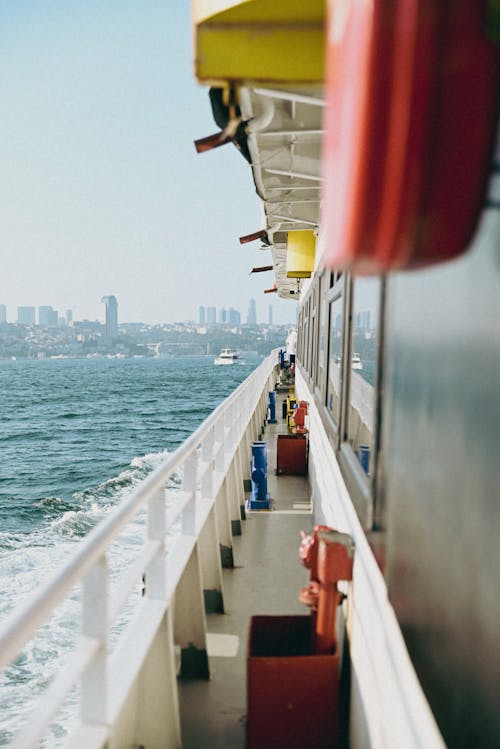
[(187, 0), (0, 0), (0, 304), (120, 321), (235, 307), (295, 320), (264, 295), (270, 253), (250, 167), (217, 130), (192, 73)]

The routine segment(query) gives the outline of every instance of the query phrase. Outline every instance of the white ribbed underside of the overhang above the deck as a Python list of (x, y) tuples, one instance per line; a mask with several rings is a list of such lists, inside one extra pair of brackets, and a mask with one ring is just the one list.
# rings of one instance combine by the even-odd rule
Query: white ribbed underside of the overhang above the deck
[(253, 178), (263, 202), (278, 296), (297, 299), (301, 282), (286, 276), (286, 235), (318, 227), (322, 89), (243, 87), (239, 103), (248, 122)]

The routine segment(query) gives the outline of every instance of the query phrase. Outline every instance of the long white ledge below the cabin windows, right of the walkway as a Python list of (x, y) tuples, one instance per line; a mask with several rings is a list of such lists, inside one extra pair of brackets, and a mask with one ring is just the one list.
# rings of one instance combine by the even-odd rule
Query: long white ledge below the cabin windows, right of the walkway
[(306, 382), (309, 478), (316, 515), (355, 542), (353, 581), (343, 605), (351, 657), (352, 749), (443, 749), (444, 742), (417, 679), (383, 575), (375, 561)]

